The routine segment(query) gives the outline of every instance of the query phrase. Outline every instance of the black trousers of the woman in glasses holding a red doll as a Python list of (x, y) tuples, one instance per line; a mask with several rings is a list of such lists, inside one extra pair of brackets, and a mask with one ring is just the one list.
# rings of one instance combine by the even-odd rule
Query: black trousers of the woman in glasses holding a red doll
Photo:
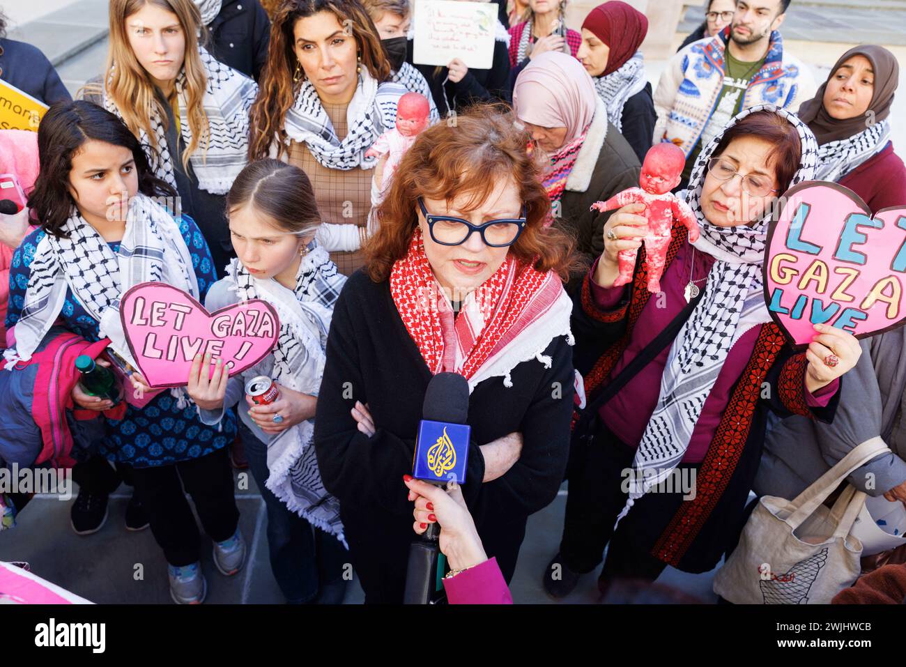
[[(587, 447), (579, 445), (581, 450), (571, 452), (560, 554), (564, 565), (584, 574), (601, 563), (607, 546), (603, 579), (654, 581), (667, 564), (652, 556), (651, 549), (679, 508), (683, 494), (681, 491), (645, 494), (635, 501), (614, 533), (613, 524), (628, 498), (622, 488), (635, 449), (597, 421), (599, 427), (592, 443)], [(678, 466), (680, 471), (698, 468), (698, 465)]]

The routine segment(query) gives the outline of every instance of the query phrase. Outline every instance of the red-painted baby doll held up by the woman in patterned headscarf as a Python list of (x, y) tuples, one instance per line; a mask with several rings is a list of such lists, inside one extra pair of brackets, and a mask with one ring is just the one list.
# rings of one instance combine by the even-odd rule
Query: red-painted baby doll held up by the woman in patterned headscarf
[[(649, 234), (642, 240), (645, 243), (649, 292), (660, 292), (660, 276), (664, 273), (673, 220), (677, 219), (689, 227), (690, 243), (695, 243), (699, 238), (699, 224), (689, 204), (670, 194), (670, 190), (679, 185), (685, 165), (686, 157), (678, 146), (671, 143), (655, 144), (645, 155), (645, 163), (641, 166), (641, 188), (623, 190), (607, 201), (597, 201), (592, 205), (593, 209), (602, 213), (629, 204), (645, 205), (646, 210), (642, 215), (648, 218)], [(620, 251), (620, 275), (614, 281), (614, 286), (631, 283), (638, 252), (637, 249)]]

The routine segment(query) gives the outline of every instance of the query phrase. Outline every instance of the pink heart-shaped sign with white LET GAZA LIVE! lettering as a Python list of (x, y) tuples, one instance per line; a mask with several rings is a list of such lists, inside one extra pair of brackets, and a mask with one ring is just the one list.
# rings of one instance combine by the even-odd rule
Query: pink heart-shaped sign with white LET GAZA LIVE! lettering
[(184, 387), (196, 354), (222, 359), (232, 377), (274, 349), (280, 321), (271, 304), (252, 299), (208, 313), (191, 295), (163, 283), (131, 287), (120, 321), (132, 358), (152, 388)]

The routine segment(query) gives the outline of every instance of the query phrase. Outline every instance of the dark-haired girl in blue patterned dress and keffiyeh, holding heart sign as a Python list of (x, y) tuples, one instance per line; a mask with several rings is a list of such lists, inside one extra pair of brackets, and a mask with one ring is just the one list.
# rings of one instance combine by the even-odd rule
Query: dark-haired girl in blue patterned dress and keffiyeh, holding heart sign
[[(5, 352), (7, 368), (30, 359), (58, 317), (88, 341), (111, 339), (111, 348), (131, 362), (120, 296), (159, 281), (203, 298), (216, 279), (205, 239), (191, 218), (174, 219), (155, 200), (175, 192), (111, 112), (90, 102), (54, 105), (38, 130), (38, 150), (41, 173), (28, 204), (41, 227), (13, 257), (6, 325), (15, 326), (15, 344)], [(150, 391), (140, 375), (132, 382), (136, 391)], [(85, 410), (112, 406), (78, 386), (72, 401)], [(207, 590), (183, 487), (215, 542), (218, 569), (232, 575), (245, 562), (225, 449), (235, 435), (233, 415), (220, 430), (208, 427), (182, 390), (161, 392), (142, 408), (130, 405), (121, 420), (105, 420), (99, 448), (130, 465), (178, 603), (200, 603)]]

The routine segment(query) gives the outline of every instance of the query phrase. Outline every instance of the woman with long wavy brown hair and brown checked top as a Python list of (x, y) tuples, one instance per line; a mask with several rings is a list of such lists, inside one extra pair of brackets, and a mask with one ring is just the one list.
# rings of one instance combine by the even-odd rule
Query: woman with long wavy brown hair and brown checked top
[(325, 224), (322, 246), (343, 274), (362, 264), (371, 176), (364, 153), (396, 122), (406, 88), (390, 82), (381, 36), (359, 0), (287, 0), (271, 26), (251, 111), (252, 160), (303, 169)]

